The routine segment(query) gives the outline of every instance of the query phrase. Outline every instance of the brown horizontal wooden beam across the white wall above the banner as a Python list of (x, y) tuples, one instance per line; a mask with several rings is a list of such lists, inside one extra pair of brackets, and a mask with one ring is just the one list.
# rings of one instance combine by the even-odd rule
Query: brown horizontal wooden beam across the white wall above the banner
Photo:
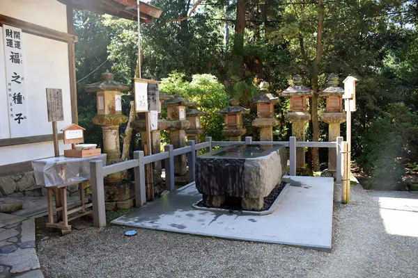
[(0, 15), (0, 24), (6, 24), (21, 28), (24, 33), (38, 35), (43, 38), (51, 40), (59, 40), (60, 42), (77, 42), (78, 38), (75, 35), (56, 31), (51, 28), (40, 26), (37, 24), (24, 22), (23, 20), (8, 17), (7, 15)]

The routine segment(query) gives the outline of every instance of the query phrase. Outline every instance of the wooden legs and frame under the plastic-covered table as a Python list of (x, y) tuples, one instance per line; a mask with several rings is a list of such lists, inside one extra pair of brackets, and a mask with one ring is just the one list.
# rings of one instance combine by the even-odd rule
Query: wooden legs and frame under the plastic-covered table
[[(71, 220), (75, 220), (80, 218), (84, 215), (93, 215), (92, 210), (86, 210), (87, 208), (91, 208), (93, 204), (86, 204), (84, 199), (84, 181), (88, 181), (88, 179), (84, 179), (81, 181), (74, 181), (72, 183), (65, 183), (59, 186), (48, 186), (47, 187), (47, 202), (48, 202), (48, 222), (46, 224), (47, 227), (56, 228), (64, 231), (71, 230), (71, 225), (68, 224)], [(67, 204), (67, 187), (68, 186), (75, 186), (79, 185), (79, 194), (80, 194), (80, 202), (81, 204), (76, 204), (72, 206), (68, 206)], [(55, 208), (54, 204), (52, 203), (52, 191), (54, 191), (55, 195)], [(70, 211), (69, 208), (72, 208)], [(72, 218), (68, 218), (68, 215), (81, 212)], [(56, 222), (54, 220), (54, 213), (56, 213)]]

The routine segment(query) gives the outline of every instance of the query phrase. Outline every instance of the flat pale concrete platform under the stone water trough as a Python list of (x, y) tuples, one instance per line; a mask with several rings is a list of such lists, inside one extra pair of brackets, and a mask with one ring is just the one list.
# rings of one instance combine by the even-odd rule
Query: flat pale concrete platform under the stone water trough
[(332, 178), (284, 177), (291, 183), (270, 215), (235, 215), (197, 211), (201, 199), (190, 183), (174, 193), (127, 213), (113, 224), (214, 236), (261, 243), (281, 243), (320, 250), (332, 245)]

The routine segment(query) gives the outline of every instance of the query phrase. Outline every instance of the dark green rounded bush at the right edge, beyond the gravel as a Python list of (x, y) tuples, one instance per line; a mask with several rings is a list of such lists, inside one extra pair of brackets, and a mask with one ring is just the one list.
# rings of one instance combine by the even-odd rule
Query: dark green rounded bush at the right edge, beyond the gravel
[(418, 114), (405, 104), (390, 104), (382, 117), (371, 123), (362, 140), (358, 162), (373, 186), (394, 189), (404, 172), (403, 159), (418, 158)]

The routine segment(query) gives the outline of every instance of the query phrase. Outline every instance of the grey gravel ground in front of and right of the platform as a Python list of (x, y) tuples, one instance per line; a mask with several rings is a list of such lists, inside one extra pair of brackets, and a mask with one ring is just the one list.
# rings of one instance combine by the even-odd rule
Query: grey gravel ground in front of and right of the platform
[(43, 240), (38, 256), (45, 277), (418, 277), (418, 238), (387, 234), (361, 186), (351, 201), (334, 204), (331, 253), (111, 226)]

